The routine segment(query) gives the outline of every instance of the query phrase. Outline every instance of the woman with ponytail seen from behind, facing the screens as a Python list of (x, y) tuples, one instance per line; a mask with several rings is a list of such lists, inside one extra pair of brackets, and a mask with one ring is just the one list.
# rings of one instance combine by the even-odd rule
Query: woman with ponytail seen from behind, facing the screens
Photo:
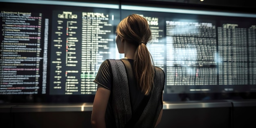
[[(128, 93), (128, 97), (121, 96), (120, 99), (126, 98), (130, 102), (127, 106), (117, 103), (120, 99), (115, 97), (117, 92), (112, 90), (113, 85), (116, 85), (112, 81), (112, 69), (109, 61), (104, 61), (94, 80), (98, 89), (92, 108), (92, 127), (124, 128), (144, 96), (149, 95), (150, 99), (134, 128), (155, 128), (162, 117), (165, 76), (162, 69), (153, 65), (153, 59), (146, 47), (151, 40), (148, 22), (142, 16), (132, 14), (121, 20), (116, 33), (117, 48), (120, 54), (124, 53), (121, 62), (125, 65), (128, 77), (128, 89), (123, 89)], [(122, 107), (127, 111), (118, 111)]]

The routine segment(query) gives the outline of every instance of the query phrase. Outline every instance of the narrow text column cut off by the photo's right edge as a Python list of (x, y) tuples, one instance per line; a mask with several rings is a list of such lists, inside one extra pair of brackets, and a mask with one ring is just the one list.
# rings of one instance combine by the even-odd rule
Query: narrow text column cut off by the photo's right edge
[(249, 84), (256, 85), (256, 25), (248, 29)]

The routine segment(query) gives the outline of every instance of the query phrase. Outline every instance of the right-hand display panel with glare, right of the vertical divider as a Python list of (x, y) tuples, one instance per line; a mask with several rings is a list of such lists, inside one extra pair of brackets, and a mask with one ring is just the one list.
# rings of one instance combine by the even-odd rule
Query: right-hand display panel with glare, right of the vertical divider
[[(123, 5), (144, 16), (165, 101), (255, 98), (256, 15)], [(150, 11), (148, 11), (150, 10)], [(244, 94), (244, 95), (242, 95)]]

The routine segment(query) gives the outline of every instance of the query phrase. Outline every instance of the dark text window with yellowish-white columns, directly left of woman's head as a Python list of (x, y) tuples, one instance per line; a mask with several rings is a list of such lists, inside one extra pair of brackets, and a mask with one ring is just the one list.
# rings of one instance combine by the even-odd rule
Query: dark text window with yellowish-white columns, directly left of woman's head
[(99, 67), (113, 56), (114, 15), (54, 11), (53, 17), (50, 94), (95, 94)]

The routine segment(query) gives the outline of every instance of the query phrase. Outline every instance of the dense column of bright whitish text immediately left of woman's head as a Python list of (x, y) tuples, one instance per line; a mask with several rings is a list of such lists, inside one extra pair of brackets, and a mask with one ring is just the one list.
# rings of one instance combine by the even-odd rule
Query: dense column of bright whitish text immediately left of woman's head
[(81, 94), (92, 94), (97, 90), (93, 80), (99, 66), (111, 54), (114, 15), (83, 12), (82, 19)]

